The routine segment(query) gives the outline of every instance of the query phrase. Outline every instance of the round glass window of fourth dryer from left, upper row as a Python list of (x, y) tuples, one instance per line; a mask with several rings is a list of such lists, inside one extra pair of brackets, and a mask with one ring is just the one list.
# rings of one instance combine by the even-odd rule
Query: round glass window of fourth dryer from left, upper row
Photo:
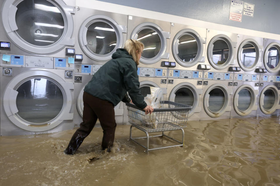
[(178, 57), (184, 62), (192, 61), (198, 52), (197, 41), (189, 34), (179, 37)]

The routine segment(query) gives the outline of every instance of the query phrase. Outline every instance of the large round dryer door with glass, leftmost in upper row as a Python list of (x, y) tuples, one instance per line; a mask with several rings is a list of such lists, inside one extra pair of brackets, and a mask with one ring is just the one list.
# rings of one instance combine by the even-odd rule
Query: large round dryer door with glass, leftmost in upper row
[(74, 12), (74, 7), (62, 0), (6, 0), (2, 21), (10, 39), (21, 49), (48, 54), (65, 45), (74, 46)]

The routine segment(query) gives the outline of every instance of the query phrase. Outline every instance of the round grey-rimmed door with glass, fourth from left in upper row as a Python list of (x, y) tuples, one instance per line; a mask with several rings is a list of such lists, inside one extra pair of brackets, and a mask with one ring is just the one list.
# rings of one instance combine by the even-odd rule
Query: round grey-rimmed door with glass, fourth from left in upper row
[(173, 40), (172, 52), (175, 60), (183, 67), (192, 67), (197, 62), (204, 62), (203, 43), (205, 38), (192, 29), (183, 29)]

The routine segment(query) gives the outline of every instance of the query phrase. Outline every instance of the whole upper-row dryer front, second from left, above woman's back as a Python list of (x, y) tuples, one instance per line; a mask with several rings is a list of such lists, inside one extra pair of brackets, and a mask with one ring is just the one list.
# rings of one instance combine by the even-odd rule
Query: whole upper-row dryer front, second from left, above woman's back
[(127, 15), (76, 7), (75, 49), (80, 64), (104, 65), (127, 39)]

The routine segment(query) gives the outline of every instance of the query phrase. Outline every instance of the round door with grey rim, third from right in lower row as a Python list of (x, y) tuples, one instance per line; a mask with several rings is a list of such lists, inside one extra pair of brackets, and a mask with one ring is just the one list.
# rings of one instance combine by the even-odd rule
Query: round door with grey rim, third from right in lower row
[(230, 94), (232, 90), (223, 84), (211, 85), (204, 94), (203, 105), (206, 113), (211, 117), (219, 117), (225, 111), (230, 111)]

